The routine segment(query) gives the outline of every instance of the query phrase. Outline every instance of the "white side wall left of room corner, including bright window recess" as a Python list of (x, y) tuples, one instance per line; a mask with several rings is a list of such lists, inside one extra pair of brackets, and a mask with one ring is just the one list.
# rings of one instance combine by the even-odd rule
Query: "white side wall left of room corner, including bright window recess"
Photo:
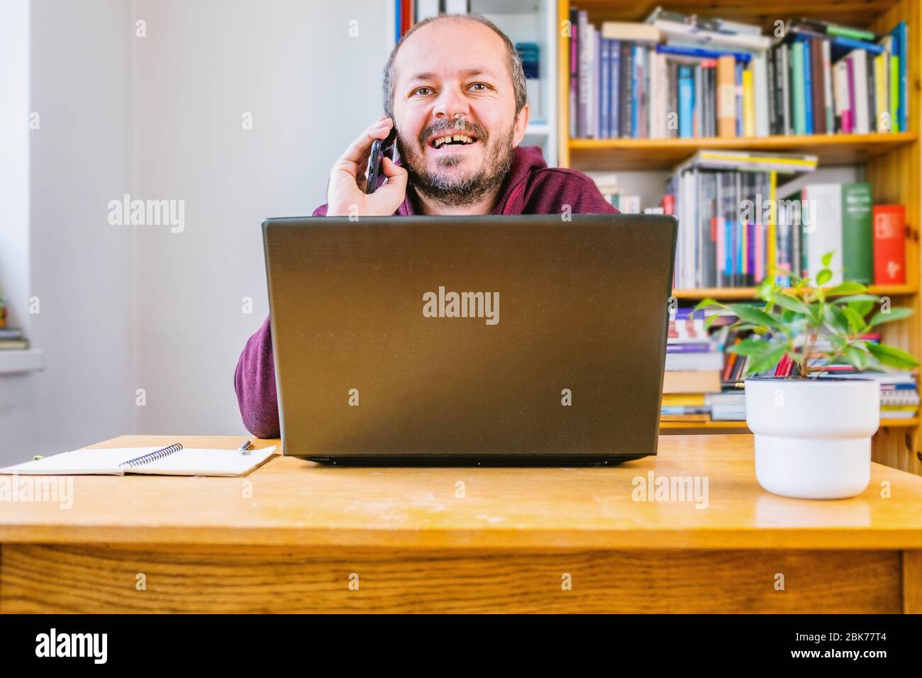
[(0, 375), (7, 463), (134, 430), (134, 240), (106, 221), (130, 181), (127, 5), (3, 11), (0, 282), (11, 325), (45, 351), (42, 372)]

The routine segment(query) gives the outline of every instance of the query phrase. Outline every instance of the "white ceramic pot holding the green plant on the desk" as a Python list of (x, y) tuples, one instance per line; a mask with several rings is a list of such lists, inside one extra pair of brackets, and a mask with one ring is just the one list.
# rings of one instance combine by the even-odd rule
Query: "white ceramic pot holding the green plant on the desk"
[(746, 380), (755, 474), (773, 494), (843, 499), (870, 482), (870, 438), (881, 425), (872, 379)]

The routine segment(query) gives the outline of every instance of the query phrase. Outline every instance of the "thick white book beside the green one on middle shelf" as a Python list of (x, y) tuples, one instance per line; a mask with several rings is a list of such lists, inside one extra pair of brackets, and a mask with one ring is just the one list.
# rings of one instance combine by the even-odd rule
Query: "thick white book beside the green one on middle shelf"
[(822, 256), (833, 253), (829, 268), (833, 278), (824, 285), (842, 282), (842, 184), (807, 184), (802, 192), (801, 225), (807, 244), (807, 270), (810, 278), (822, 266)]

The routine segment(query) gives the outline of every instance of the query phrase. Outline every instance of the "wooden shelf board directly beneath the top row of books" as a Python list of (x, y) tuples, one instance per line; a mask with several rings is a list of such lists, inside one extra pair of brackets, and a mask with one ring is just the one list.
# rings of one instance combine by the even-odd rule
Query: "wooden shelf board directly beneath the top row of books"
[(916, 141), (915, 132), (792, 137), (570, 139), (570, 160), (580, 170), (668, 170), (700, 149), (808, 153), (821, 166), (867, 162)]

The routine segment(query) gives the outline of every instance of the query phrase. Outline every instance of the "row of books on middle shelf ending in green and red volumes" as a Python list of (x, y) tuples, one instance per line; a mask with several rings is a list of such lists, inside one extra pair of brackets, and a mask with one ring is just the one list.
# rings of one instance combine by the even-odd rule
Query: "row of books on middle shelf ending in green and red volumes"
[(817, 158), (701, 150), (668, 180), (663, 208), (679, 218), (673, 287), (751, 287), (774, 271), (810, 277), (833, 252), (836, 285), (904, 284), (905, 208), (872, 205), (871, 185), (806, 184), (779, 177), (813, 172)]

